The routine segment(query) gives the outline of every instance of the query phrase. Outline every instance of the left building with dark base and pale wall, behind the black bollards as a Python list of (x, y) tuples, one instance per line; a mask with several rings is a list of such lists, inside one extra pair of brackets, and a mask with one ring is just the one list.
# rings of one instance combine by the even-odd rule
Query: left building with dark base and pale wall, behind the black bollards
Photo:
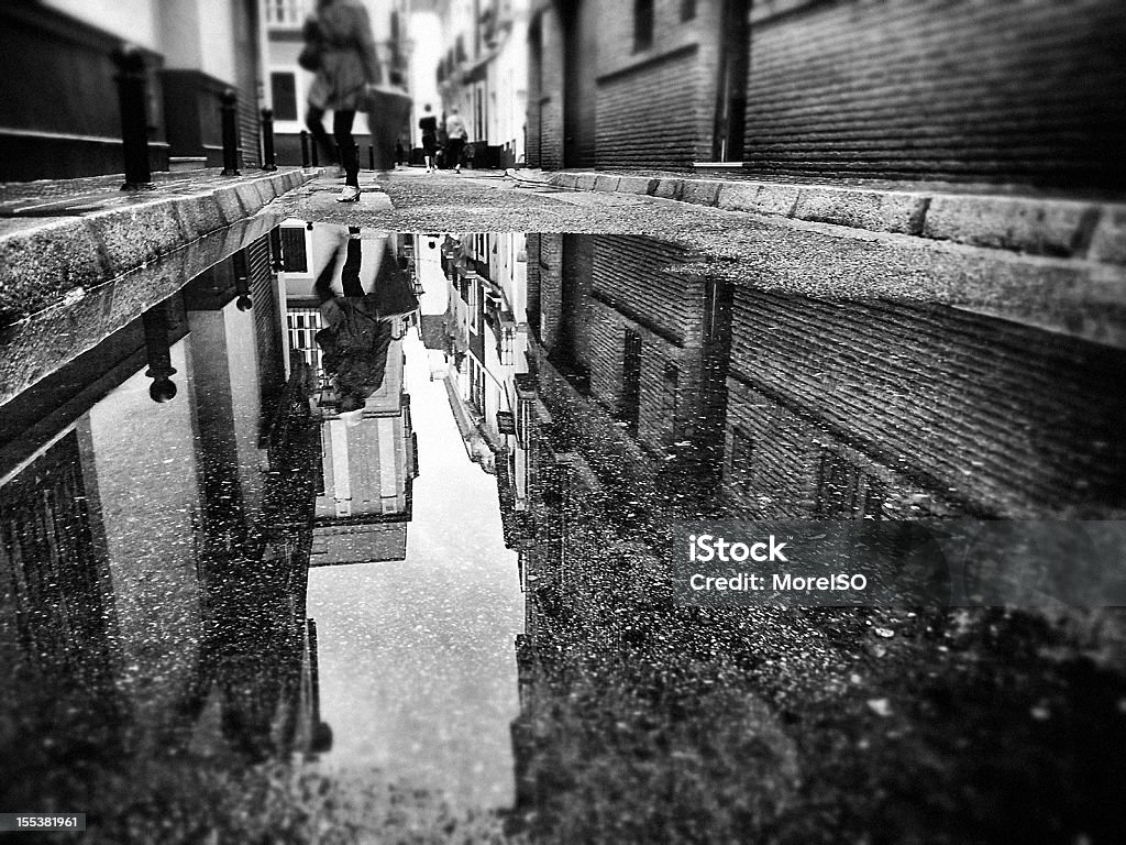
[(141, 48), (153, 171), (223, 164), (220, 95), (238, 92), (242, 164), (260, 163), (256, 0), (44, 0), (0, 7), (0, 181), (119, 174), (114, 63)]

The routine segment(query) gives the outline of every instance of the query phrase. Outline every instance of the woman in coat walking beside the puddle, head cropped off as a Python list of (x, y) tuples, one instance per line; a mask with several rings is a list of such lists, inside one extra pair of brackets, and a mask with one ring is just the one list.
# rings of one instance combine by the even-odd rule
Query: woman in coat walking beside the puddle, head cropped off
[[(367, 10), (359, 0), (318, 0), (316, 12), (305, 21), (306, 52), (315, 51), (316, 79), (309, 89), (305, 125), (330, 161), (345, 169), (339, 203), (359, 199), (359, 149), (352, 137), (356, 112), (373, 86), (382, 81), (375, 38)], [(332, 149), (322, 121), (332, 112)]]

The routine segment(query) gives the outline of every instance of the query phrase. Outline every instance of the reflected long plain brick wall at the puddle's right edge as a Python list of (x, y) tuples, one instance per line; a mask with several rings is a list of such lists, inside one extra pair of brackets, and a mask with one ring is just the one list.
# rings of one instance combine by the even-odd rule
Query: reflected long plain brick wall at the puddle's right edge
[(958, 509), (1121, 507), (1124, 355), (1049, 340), (947, 308), (739, 290), (731, 372)]

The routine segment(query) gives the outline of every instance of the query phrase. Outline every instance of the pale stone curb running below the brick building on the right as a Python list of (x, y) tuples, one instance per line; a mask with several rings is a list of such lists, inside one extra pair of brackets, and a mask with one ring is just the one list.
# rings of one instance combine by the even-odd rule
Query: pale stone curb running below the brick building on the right
[(571, 190), (638, 194), (869, 232), (1126, 264), (1126, 204), (742, 179), (575, 171), (546, 176), (548, 184)]

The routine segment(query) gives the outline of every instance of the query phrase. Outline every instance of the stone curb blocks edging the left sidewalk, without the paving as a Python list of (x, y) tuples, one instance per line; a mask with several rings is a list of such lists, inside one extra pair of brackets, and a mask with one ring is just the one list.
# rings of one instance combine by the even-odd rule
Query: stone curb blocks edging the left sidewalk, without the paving
[(244, 220), (315, 175), (287, 169), (80, 217), (29, 217), (0, 235), (0, 326)]

